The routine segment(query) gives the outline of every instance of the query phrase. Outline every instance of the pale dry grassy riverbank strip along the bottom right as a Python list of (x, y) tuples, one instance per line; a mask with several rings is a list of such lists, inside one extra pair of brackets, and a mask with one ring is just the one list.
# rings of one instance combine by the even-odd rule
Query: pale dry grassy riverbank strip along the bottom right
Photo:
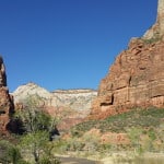
[(83, 156), (73, 154), (59, 156), (61, 164), (163, 164), (164, 153), (136, 154), (133, 152), (113, 152)]

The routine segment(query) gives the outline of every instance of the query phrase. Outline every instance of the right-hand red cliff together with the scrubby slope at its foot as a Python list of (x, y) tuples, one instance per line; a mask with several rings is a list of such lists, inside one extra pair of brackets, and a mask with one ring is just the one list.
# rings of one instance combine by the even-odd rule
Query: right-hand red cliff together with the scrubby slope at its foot
[(164, 0), (159, 0), (156, 22), (143, 36), (131, 38), (128, 48), (116, 57), (99, 83), (87, 119), (63, 137), (68, 149), (163, 152), (163, 70)]

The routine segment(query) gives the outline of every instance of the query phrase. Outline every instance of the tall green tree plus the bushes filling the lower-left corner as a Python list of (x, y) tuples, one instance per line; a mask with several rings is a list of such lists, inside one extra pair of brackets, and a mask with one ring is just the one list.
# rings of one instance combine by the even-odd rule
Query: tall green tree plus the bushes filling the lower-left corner
[(16, 110), (14, 119), (22, 122), (23, 134), (13, 137), (15, 145), (12, 144), (13, 141), (0, 142), (0, 162), (13, 164), (60, 163), (54, 153), (54, 142), (50, 142), (56, 121), (43, 110), (39, 101), (36, 96), (28, 97), (23, 104), (24, 108)]

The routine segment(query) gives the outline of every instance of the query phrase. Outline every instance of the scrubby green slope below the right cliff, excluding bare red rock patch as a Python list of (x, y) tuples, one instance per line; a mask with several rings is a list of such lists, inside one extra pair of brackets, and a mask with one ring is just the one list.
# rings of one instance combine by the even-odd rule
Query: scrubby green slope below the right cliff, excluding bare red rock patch
[[(110, 116), (104, 120), (89, 120), (71, 129), (69, 147), (66, 150), (89, 150), (98, 152), (133, 151), (162, 152), (164, 150), (164, 109), (133, 108), (130, 112)], [(99, 136), (87, 133), (92, 129), (99, 132), (126, 133), (129, 139), (127, 144), (101, 142)], [(86, 136), (90, 137), (87, 140)], [(108, 137), (112, 138), (112, 137)], [(89, 147), (89, 149), (86, 149)], [(71, 149), (70, 149), (71, 148)], [(73, 149), (72, 149), (73, 148)]]

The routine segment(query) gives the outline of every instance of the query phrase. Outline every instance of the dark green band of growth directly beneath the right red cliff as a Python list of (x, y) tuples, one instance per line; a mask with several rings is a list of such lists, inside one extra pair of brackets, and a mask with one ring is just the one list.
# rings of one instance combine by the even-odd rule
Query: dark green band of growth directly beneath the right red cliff
[(133, 108), (128, 113), (110, 116), (104, 120), (89, 120), (81, 122), (71, 129), (72, 133), (81, 136), (92, 128), (101, 129), (102, 132), (126, 132), (131, 127), (156, 128), (164, 120), (164, 109), (155, 107), (142, 109)]

